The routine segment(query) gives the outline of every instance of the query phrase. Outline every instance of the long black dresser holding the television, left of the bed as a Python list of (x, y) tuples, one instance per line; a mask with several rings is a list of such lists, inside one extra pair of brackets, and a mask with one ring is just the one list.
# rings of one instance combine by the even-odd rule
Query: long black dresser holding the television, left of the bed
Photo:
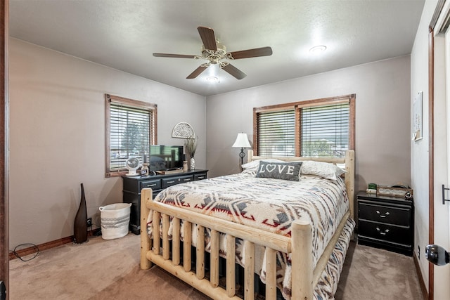
[(123, 202), (131, 203), (129, 230), (140, 234), (141, 230), (141, 189), (151, 188), (153, 198), (161, 190), (171, 185), (198, 181), (207, 178), (208, 170), (193, 170), (176, 174), (154, 175), (154, 176), (122, 176), (124, 181)]

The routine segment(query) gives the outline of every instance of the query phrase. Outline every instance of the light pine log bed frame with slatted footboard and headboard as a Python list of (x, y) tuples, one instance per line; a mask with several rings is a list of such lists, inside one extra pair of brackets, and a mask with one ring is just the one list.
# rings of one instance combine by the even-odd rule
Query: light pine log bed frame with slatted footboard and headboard
[[(306, 157), (259, 157), (249, 151), (248, 161), (276, 158), (285, 161), (311, 160)], [(254, 299), (255, 286), (255, 244), (265, 247), (266, 254), (266, 299), (276, 299), (276, 252), (292, 252), (292, 299), (312, 300), (314, 287), (330, 258), (338, 237), (348, 218), (354, 216), (354, 150), (347, 150), (344, 158), (314, 158), (315, 161), (345, 163), (345, 185), (349, 197), (349, 211), (340, 222), (335, 235), (323, 251), (316, 268), (313, 269), (312, 229), (311, 224), (294, 221), (291, 237), (269, 233), (257, 228), (250, 228), (211, 216), (180, 209), (171, 205), (152, 201), (152, 190), (141, 191), (141, 269), (148, 269), (152, 263), (188, 283), (212, 299), (240, 299), (236, 296), (235, 255), (236, 238), (244, 240), (245, 266), (244, 290), (245, 299)], [(162, 236), (160, 230), (153, 230), (152, 240), (147, 234), (147, 219), (150, 209), (153, 210), (153, 228), (160, 227), (162, 216)], [(172, 231), (172, 249), (168, 237), (169, 216), (174, 217)], [(183, 265), (180, 265), (180, 220), (186, 222), (184, 227)], [(195, 273), (191, 270), (191, 226), (197, 224), (197, 245)], [(210, 278), (205, 278), (205, 228), (211, 229)], [(226, 288), (219, 287), (219, 233), (226, 234)], [(162, 239), (162, 248), (160, 240)], [(153, 247), (152, 247), (153, 246)], [(160, 250), (162, 249), (162, 251)], [(170, 252), (172, 250), (172, 259)], [(250, 292), (251, 291), (251, 292)]]

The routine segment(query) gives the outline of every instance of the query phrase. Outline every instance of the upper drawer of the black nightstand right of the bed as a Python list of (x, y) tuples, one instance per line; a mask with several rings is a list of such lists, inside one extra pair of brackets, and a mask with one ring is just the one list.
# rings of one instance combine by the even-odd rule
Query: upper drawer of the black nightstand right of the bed
[(359, 202), (358, 213), (359, 219), (399, 226), (411, 224), (411, 207), (389, 207), (383, 204)]

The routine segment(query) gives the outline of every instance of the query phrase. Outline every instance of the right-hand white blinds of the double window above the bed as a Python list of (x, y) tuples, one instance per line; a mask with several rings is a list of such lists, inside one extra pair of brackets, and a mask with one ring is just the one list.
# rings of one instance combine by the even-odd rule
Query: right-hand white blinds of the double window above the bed
[(349, 149), (349, 103), (300, 108), (304, 157), (345, 157)]

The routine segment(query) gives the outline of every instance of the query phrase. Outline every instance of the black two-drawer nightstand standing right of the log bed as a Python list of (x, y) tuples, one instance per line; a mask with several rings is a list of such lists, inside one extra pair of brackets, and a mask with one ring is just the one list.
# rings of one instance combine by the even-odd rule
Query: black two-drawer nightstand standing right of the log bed
[(359, 192), (357, 201), (359, 244), (413, 255), (413, 200)]

